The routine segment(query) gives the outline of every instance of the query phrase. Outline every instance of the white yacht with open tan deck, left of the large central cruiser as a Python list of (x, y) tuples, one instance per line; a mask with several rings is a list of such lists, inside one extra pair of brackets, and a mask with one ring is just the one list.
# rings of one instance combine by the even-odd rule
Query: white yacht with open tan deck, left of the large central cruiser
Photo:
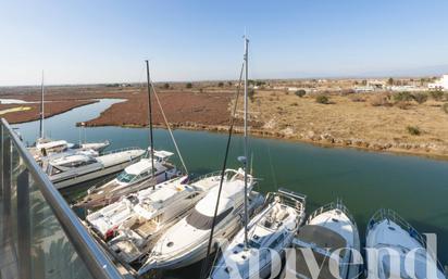
[(208, 176), (188, 185), (164, 182), (158, 185), (155, 190), (140, 191), (139, 203), (134, 206), (134, 217), (122, 223), (116, 230), (117, 236), (108, 243), (112, 254), (123, 263), (141, 264), (160, 234), (186, 216), (212, 188), (217, 187), (216, 178)]

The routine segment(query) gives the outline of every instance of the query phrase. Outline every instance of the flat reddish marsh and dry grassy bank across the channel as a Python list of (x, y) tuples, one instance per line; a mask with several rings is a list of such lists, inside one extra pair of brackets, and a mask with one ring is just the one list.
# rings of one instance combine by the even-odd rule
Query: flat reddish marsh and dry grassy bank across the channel
[[(147, 92), (144, 87), (61, 87), (50, 88), (48, 91), (47, 100), (57, 101), (49, 102), (49, 115), (97, 99), (115, 98), (126, 101), (115, 103), (98, 117), (85, 122), (86, 126), (148, 125)], [(228, 130), (235, 86), (226, 84), (217, 87), (209, 83), (198, 84), (192, 88), (185, 88), (183, 84), (164, 88), (159, 85), (158, 93), (173, 128), (217, 132)], [(421, 103), (413, 99), (397, 101), (390, 93), (376, 92), (324, 94), (328, 101), (320, 103), (316, 101), (318, 93), (299, 97), (285, 90), (257, 89), (250, 96), (250, 134), (323, 147), (448, 158), (448, 114), (443, 110), (445, 100), (426, 97)], [(7, 97), (8, 94), (2, 94), (2, 98)], [(39, 91), (36, 89), (34, 92), (9, 97), (37, 101)], [(236, 132), (242, 130), (242, 100), (239, 100)], [(54, 104), (60, 110), (51, 107)], [(34, 110), (5, 114), (5, 117), (11, 123), (37, 119), (38, 104), (35, 105)], [(13, 106), (4, 104), (0, 105), (0, 110)], [(164, 127), (155, 100), (152, 109), (154, 125)]]

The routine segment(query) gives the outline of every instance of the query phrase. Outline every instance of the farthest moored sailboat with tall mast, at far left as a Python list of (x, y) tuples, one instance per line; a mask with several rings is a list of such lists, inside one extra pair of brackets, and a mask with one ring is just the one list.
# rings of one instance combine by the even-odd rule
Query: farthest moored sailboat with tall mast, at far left
[[(88, 151), (92, 150), (96, 152), (101, 152), (105, 148), (110, 145), (108, 140), (102, 142), (84, 142), (84, 143), (70, 143), (66, 140), (52, 140), (47, 138), (45, 135), (45, 84), (43, 84), (43, 72), (42, 72), (42, 80), (40, 85), (40, 113), (39, 113), (39, 138), (36, 140), (34, 147), (28, 148), (29, 152), (33, 154), (35, 160), (40, 163), (42, 157), (58, 154), (62, 152), (76, 152), (76, 151)], [(90, 153), (90, 154), (98, 154), (98, 153)]]

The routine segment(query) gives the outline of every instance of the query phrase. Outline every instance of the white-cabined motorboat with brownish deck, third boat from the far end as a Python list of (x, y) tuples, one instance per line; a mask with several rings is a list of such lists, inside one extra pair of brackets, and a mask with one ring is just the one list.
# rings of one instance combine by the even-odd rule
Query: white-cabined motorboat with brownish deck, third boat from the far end
[[(87, 195), (75, 206), (95, 210), (117, 201), (120, 198), (155, 186), (181, 175), (181, 172), (169, 162), (174, 153), (154, 151), (154, 167), (152, 169), (151, 153), (137, 163), (127, 166), (115, 179), (99, 187), (92, 187)], [(152, 170), (154, 177), (152, 177)]]

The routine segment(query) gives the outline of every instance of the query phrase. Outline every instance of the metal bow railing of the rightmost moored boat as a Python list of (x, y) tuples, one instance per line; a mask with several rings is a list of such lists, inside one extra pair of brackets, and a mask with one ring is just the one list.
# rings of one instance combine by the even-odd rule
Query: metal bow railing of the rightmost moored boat
[[(395, 224), (400, 226), (403, 230), (408, 231), (409, 236), (413, 238), (415, 241), (418, 241), (423, 248), (425, 248), (426, 250), (428, 249), (425, 238), (409, 221), (407, 221), (405, 218), (398, 215), (398, 213), (396, 213), (395, 211), (390, 208), (378, 210), (370, 219), (366, 232), (369, 232), (369, 230), (375, 224), (381, 223), (382, 220), (385, 220), (385, 219), (394, 221)], [(431, 253), (434, 254), (434, 251), (431, 251)], [(434, 258), (434, 261), (436, 261), (438, 268), (441, 271), (444, 271), (445, 268), (441, 265), (441, 263), (437, 258)]]

